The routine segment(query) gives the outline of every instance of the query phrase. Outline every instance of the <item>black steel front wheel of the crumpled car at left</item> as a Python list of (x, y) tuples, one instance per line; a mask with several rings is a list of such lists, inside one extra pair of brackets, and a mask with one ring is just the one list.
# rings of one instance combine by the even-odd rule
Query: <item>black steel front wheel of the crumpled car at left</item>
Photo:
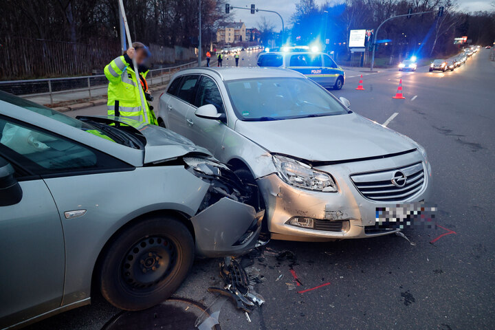
[(162, 303), (186, 278), (194, 248), (188, 228), (174, 217), (134, 223), (113, 239), (100, 261), (102, 295), (129, 311)]

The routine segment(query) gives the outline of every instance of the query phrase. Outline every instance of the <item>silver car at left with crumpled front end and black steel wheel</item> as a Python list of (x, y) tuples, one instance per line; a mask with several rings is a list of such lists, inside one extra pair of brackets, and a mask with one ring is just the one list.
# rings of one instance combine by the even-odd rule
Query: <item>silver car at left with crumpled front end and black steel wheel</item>
[(254, 247), (263, 211), (206, 149), (158, 126), (80, 120), (0, 92), (0, 329), (90, 303), (152, 307), (195, 254)]

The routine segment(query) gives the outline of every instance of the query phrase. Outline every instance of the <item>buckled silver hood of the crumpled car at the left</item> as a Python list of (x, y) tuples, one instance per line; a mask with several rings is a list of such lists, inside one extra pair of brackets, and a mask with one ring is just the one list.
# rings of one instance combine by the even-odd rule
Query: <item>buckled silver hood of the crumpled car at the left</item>
[(169, 129), (156, 125), (142, 124), (135, 120), (129, 120), (126, 118), (113, 117), (113, 116), (94, 116), (87, 117), (90, 119), (103, 118), (111, 120), (113, 122), (122, 122), (133, 126), (137, 131), (140, 131), (144, 138), (146, 138), (146, 145), (144, 146), (144, 162), (143, 164), (149, 164), (153, 162), (159, 162), (160, 160), (170, 159), (175, 157), (181, 157), (188, 153), (201, 153), (204, 155), (212, 155), (205, 148), (197, 146), (188, 140), (186, 137), (179, 135)]

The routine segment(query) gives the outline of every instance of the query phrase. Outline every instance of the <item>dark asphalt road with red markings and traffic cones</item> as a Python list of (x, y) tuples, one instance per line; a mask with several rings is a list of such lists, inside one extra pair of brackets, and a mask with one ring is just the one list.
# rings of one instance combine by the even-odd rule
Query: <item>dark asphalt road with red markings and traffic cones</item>
[[(233, 60), (223, 64), (228, 61)], [(254, 259), (265, 278), (256, 290), (266, 303), (252, 313), (251, 323), (225, 303), (222, 329), (493, 329), (495, 62), (481, 50), (454, 72), (430, 73), (428, 67), (365, 72), (364, 91), (355, 90), (357, 74), (347, 76), (344, 88), (333, 94), (380, 123), (397, 113), (388, 127), (426, 148), (437, 222), (454, 233), (432, 245), (448, 231), (406, 231), (415, 246), (395, 235), (334, 243), (271, 241), (270, 249), (290, 250), (296, 261), (277, 260), (273, 251)], [(399, 79), (406, 100), (392, 98)], [(102, 111), (94, 107), (69, 114)], [(289, 291), (291, 263), (303, 287)], [(212, 303), (214, 296), (206, 289), (219, 284), (217, 265), (217, 260), (196, 261), (175, 296)], [(325, 283), (330, 284), (298, 293)], [(100, 329), (117, 313), (96, 296), (94, 305), (29, 329)]]

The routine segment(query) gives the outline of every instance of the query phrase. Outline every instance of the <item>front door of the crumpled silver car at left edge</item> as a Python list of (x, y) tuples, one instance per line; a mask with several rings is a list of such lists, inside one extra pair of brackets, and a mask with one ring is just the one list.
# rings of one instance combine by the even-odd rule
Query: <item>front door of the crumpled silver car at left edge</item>
[(23, 123), (0, 115), (0, 156), (14, 166), (23, 196), (0, 206), (0, 328), (61, 306), (65, 245), (61, 218), (45, 181), (29, 168), (28, 157), (44, 144)]

